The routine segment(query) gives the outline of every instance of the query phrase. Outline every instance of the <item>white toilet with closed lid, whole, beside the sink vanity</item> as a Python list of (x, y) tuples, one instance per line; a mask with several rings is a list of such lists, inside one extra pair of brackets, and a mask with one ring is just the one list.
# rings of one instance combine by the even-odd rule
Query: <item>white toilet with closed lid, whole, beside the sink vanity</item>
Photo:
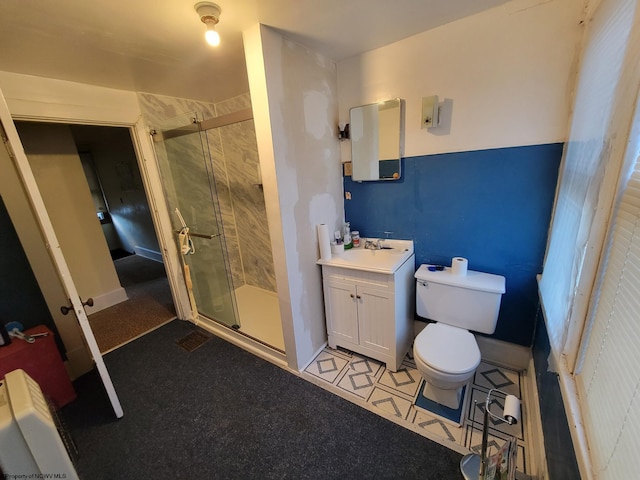
[(423, 395), (452, 409), (460, 407), (462, 389), (480, 365), (473, 332), (496, 329), (505, 278), (468, 270), (420, 265), (416, 278), (416, 313), (429, 323), (413, 342), (413, 357), (425, 379)]

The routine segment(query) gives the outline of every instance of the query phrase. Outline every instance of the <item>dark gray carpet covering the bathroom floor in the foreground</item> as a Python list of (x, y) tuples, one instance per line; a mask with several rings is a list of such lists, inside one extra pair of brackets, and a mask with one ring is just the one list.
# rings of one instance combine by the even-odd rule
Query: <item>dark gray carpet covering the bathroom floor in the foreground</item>
[(174, 320), (105, 356), (63, 410), (82, 479), (456, 479), (461, 455)]

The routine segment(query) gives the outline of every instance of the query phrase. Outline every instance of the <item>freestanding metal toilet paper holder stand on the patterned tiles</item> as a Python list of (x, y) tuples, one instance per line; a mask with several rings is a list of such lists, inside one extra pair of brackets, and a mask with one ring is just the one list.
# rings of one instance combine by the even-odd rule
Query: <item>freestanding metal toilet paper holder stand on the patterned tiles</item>
[[(496, 415), (491, 411), (491, 403), (493, 403), (493, 394), (501, 393), (505, 396), (504, 407), (502, 409), (502, 416)], [(476, 402), (477, 403), (477, 402)], [(460, 471), (465, 480), (478, 480), (484, 479), (487, 469), (487, 449), (489, 440), (489, 417), (502, 423), (508, 423), (509, 425), (515, 425), (520, 421), (520, 400), (515, 395), (508, 395), (502, 390), (492, 388), (487, 393), (487, 398), (484, 404), (484, 419), (482, 424), (482, 447), (480, 455), (476, 453), (469, 453), (462, 457), (460, 460)], [(514, 458), (515, 463), (515, 458)], [(513, 471), (515, 472), (515, 465), (513, 465)], [(509, 477), (513, 478), (513, 477)]]

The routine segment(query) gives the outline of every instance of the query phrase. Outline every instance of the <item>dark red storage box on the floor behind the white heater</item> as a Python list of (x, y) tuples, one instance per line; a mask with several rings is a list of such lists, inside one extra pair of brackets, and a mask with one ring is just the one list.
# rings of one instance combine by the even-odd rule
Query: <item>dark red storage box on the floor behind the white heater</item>
[(57, 408), (61, 408), (75, 400), (76, 392), (64, 368), (53, 332), (44, 325), (39, 325), (24, 333), (33, 335), (44, 332), (48, 335), (36, 337), (35, 343), (12, 337), (10, 345), (0, 348), (0, 379), (7, 373), (21, 368), (38, 382), (42, 393), (49, 397)]

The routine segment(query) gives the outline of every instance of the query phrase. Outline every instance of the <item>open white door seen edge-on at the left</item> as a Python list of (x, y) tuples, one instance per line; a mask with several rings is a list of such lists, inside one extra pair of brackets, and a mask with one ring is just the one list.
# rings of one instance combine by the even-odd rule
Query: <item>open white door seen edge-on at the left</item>
[(16, 131), (16, 127), (11, 118), (11, 113), (9, 112), (9, 108), (7, 106), (7, 103), (5, 102), (4, 96), (2, 95), (2, 91), (0, 91), (0, 122), (2, 123), (2, 129), (4, 130), (2, 137), (6, 144), (7, 151), (13, 159), (16, 170), (18, 171), (18, 174), (22, 179), (24, 189), (27, 192), (29, 200), (31, 201), (33, 211), (47, 244), (51, 259), (56, 268), (63, 288), (67, 294), (67, 297), (71, 301), (73, 312), (78, 319), (78, 323), (80, 324), (80, 328), (82, 329), (85, 342), (89, 347), (98, 372), (100, 373), (100, 378), (102, 379), (104, 388), (107, 392), (107, 395), (109, 396), (109, 400), (111, 401), (113, 411), (116, 417), (120, 418), (123, 415), (120, 400), (118, 399), (118, 395), (116, 394), (113, 383), (111, 382), (111, 377), (109, 376), (107, 367), (104, 364), (104, 360), (102, 358), (102, 354), (100, 353), (100, 349), (98, 348), (98, 344), (96, 343), (95, 337), (93, 336), (93, 331), (91, 330), (91, 327), (89, 325), (89, 320), (87, 319), (87, 314), (84, 311), (84, 306), (82, 305), (82, 301), (80, 300), (76, 286), (73, 283), (73, 279), (71, 278), (69, 267), (67, 266), (67, 262), (62, 255), (60, 244), (58, 243), (58, 239), (56, 238), (51, 220), (47, 215), (42, 196), (40, 195), (40, 191), (38, 190), (33, 172), (31, 171), (29, 161), (27, 160), (27, 157), (24, 153), (24, 148), (22, 147), (22, 143), (20, 142), (20, 137), (18, 136), (18, 132)]

